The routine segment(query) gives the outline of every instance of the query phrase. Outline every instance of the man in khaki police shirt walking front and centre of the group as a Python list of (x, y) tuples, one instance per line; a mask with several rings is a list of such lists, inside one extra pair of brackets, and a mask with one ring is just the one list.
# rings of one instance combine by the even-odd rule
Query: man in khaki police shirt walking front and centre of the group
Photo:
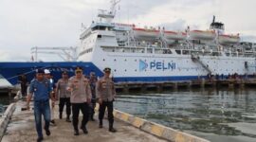
[(74, 135), (79, 135), (78, 123), (79, 113), (82, 111), (81, 129), (84, 134), (87, 134), (86, 124), (89, 119), (89, 103), (91, 102), (91, 88), (89, 80), (82, 75), (82, 67), (77, 67), (75, 76), (68, 80), (67, 90), (71, 91), (70, 101), (72, 104), (72, 121), (74, 127)]

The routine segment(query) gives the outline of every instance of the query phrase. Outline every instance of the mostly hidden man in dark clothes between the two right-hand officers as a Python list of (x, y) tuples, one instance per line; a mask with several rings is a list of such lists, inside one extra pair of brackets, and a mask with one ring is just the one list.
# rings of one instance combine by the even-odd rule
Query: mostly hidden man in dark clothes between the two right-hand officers
[(91, 100), (91, 104), (90, 104), (90, 119), (92, 121), (95, 121), (94, 119), (94, 114), (95, 114), (95, 107), (96, 107), (96, 83), (97, 83), (97, 78), (95, 76), (95, 73), (94, 72), (91, 72), (90, 73), (90, 79), (89, 79), (89, 82), (90, 82), (90, 87), (91, 87), (91, 93), (92, 93), (92, 100)]

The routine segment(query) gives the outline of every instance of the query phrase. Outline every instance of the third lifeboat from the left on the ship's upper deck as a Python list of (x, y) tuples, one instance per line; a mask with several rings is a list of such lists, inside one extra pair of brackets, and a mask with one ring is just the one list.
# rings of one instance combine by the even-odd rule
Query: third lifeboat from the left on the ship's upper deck
[(213, 30), (192, 30), (190, 37), (192, 40), (214, 40), (216, 33)]

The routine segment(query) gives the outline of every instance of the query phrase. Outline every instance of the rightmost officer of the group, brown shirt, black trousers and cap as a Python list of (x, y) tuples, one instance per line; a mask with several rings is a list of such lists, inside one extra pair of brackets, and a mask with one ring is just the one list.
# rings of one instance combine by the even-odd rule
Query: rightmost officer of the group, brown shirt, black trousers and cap
[(111, 69), (109, 67), (106, 67), (103, 71), (104, 71), (104, 77), (98, 80), (97, 86), (96, 86), (96, 95), (100, 104), (99, 127), (100, 128), (103, 127), (102, 119), (104, 117), (105, 109), (107, 108), (109, 132), (116, 133), (117, 130), (113, 128), (113, 124), (114, 124), (113, 101), (115, 100), (115, 97), (116, 97), (116, 90), (114, 86), (114, 81), (111, 80), (111, 78), (109, 77), (111, 73)]

